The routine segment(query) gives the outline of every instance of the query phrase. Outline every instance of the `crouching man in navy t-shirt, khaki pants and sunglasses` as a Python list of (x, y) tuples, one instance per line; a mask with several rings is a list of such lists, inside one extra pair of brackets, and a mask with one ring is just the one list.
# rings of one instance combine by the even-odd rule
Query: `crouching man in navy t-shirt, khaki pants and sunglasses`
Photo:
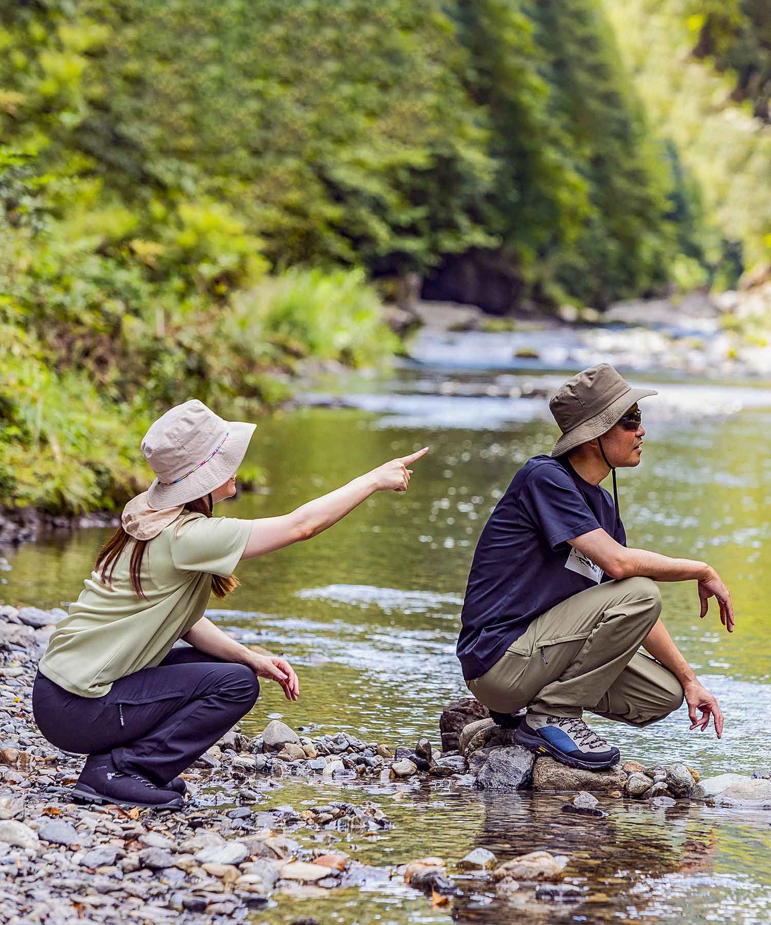
[[(727, 587), (706, 562), (628, 549), (616, 468), (640, 463), (638, 401), (613, 366), (585, 369), (549, 407), (563, 432), (517, 472), (474, 554), (457, 645), (466, 685), (516, 742), (575, 768), (620, 758), (582, 720), (590, 709), (646, 726), (688, 704), (690, 728), (723, 714), (659, 619), (656, 581), (696, 581), (733, 631)], [(613, 472), (614, 498), (600, 482)], [(642, 646), (648, 655), (638, 651)], [(527, 707), (523, 719), (512, 714)], [(701, 717), (697, 719), (697, 710)]]

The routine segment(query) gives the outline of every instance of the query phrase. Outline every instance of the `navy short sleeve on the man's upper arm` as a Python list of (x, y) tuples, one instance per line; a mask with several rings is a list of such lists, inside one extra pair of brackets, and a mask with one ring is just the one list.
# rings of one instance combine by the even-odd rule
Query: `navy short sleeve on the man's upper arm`
[(586, 499), (561, 466), (540, 465), (520, 489), (520, 503), (552, 549), (574, 536), (599, 530)]

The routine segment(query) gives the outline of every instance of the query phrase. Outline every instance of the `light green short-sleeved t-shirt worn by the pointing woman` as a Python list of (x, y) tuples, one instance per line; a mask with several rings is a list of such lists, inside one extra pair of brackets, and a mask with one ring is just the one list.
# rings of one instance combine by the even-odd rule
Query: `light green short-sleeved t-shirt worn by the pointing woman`
[(131, 586), (130, 543), (111, 588), (95, 572), (85, 580), (51, 636), (40, 671), (72, 694), (104, 697), (118, 678), (154, 668), (204, 615), (212, 575), (232, 573), (251, 532), (248, 520), (181, 513), (144, 550), (146, 599)]

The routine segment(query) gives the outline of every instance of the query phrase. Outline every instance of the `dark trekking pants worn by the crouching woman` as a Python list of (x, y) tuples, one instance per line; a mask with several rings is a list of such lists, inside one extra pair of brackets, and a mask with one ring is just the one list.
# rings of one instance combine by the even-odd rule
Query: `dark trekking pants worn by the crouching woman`
[(246, 665), (172, 648), (155, 668), (127, 674), (104, 697), (80, 697), (37, 673), (35, 722), (64, 751), (112, 754), (120, 771), (163, 786), (189, 768), (255, 704)]

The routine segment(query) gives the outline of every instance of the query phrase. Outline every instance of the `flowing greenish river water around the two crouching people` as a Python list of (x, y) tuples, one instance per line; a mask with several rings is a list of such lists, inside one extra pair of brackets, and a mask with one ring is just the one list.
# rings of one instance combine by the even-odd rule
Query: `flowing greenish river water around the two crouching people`
[[(285, 653), (300, 674), (296, 704), (275, 685), (264, 687), (244, 721), (251, 734), (281, 718), (393, 746), (423, 735), (436, 743), (442, 707), (468, 696), (454, 642), (474, 546), (518, 466), (551, 449), (555, 427), (541, 389), (565, 378), (502, 372), (500, 364), (485, 369), (489, 352), (464, 354), (464, 368), (424, 364), (374, 380), (353, 377), (336, 384), (348, 407), (310, 407), (259, 423), (249, 458), (265, 468), (266, 487), (224, 503), (223, 514), (287, 512), (379, 462), (424, 445), (431, 451), (417, 462), (406, 495), (375, 496), (313, 541), (242, 563), (242, 586), (210, 611), (242, 640)], [(728, 636), (714, 609), (700, 621), (693, 583), (662, 588), (665, 622), (719, 697), (726, 731), (721, 741), (689, 732), (685, 709), (644, 731), (592, 724), (625, 758), (680, 759), (703, 775), (771, 768), (771, 391), (662, 381), (658, 388), (660, 397), (643, 403), (642, 463), (619, 474), (622, 515), (630, 545), (709, 561), (732, 590), (738, 620)], [(0, 598), (44, 607), (76, 598), (105, 536), (83, 530), (4, 550), (13, 571), (2, 576)], [(771, 919), (771, 813), (697, 805), (653, 811), (605, 799), (608, 817), (587, 820), (562, 813), (558, 796), (491, 796), (453, 781), (291, 783), (277, 793), (295, 807), (334, 798), (379, 802), (392, 831), (352, 835), (346, 850), (379, 865), (439, 855), (464, 896), (431, 907), (404, 884), (372, 883), (323, 898), (281, 898), (256, 913), (257, 922), (302, 915), (341, 923)], [(535, 902), (522, 891), (519, 902), (515, 894), (502, 903), (489, 883), (454, 869), (477, 845), (501, 861), (537, 847), (567, 854), (567, 881), (586, 888), (586, 901)]]

